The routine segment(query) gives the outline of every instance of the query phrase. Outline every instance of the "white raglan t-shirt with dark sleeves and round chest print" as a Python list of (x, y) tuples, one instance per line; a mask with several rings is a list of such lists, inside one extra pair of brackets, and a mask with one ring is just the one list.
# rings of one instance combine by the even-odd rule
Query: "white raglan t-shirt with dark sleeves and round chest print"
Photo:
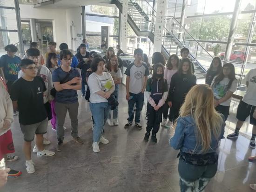
[(130, 76), (129, 92), (134, 94), (141, 93), (144, 77), (149, 75), (147, 64), (142, 62), (141, 66), (136, 66), (134, 63), (131, 63), (124, 74)]

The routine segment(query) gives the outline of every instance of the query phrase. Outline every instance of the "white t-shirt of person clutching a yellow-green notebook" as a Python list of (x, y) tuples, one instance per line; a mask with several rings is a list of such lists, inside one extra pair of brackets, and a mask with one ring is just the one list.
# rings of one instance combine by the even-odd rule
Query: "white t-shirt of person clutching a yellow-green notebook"
[(88, 86), (90, 88), (90, 102), (101, 103), (108, 102), (107, 99), (101, 97), (96, 92), (108, 92), (112, 86), (115, 86), (114, 80), (108, 72), (103, 72), (103, 75), (92, 73), (88, 78)]

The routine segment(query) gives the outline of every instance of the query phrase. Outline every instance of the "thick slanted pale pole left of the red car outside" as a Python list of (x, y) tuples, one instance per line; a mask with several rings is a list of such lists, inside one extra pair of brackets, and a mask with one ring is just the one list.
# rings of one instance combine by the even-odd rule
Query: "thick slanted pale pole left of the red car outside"
[(235, 31), (236, 31), (236, 24), (237, 24), (238, 15), (240, 12), (240, 5), (241, 5), (241, 0), (236, 0), (232, 20), (230, 23), (229, 37), (228, 37), (228, 41), (227, 41), (226, 51), (225, 51), (225, 55), (224, 55), (225, 61), (229, 61), (229, 58), (231, 55), (232, 45), (233, 45), (233, 41), (234, 41), (234, 35), (235, 35)]

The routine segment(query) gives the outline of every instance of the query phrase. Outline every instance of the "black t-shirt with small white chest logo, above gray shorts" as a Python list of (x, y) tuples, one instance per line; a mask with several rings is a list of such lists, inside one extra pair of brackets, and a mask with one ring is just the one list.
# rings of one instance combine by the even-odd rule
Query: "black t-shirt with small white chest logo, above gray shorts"
[(46, 91), (44, 80), (36, 76), (33, 81), (22, 77), (11, 86), (11, 99), (18, 101), (19, 122), (21, 125), (39, 123), (47, 118), (43, 93)]

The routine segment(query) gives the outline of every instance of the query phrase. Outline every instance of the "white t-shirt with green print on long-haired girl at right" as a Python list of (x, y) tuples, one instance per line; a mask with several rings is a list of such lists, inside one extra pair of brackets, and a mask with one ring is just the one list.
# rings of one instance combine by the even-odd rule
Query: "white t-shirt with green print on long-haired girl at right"
[[(236, 79), (233, 80), (233, 82), (232, 82), (232, 84), (231, 84), (231, 86), (228, 90), (227, 88), (228, 88), (228, 85), (229, 85), (229, 78), (224, 77), (217, 85), (213, 86), (216, 77), (217, 76), (215, 76), (213, 78), (213, 81), (212, 81), (212, 84), (211, 84), (215, 99), (221, 99), (222, 97), (224, 97), (227, 94), (228, 91), (231, 91), (231, 92), (236, 91), (236, 87), (237, 87), (237, 80)], [(231, 98), (232, 97), (230, 97), (228, 100), (221, 103), (220, 105), (221, 106), (230, 106)]]

